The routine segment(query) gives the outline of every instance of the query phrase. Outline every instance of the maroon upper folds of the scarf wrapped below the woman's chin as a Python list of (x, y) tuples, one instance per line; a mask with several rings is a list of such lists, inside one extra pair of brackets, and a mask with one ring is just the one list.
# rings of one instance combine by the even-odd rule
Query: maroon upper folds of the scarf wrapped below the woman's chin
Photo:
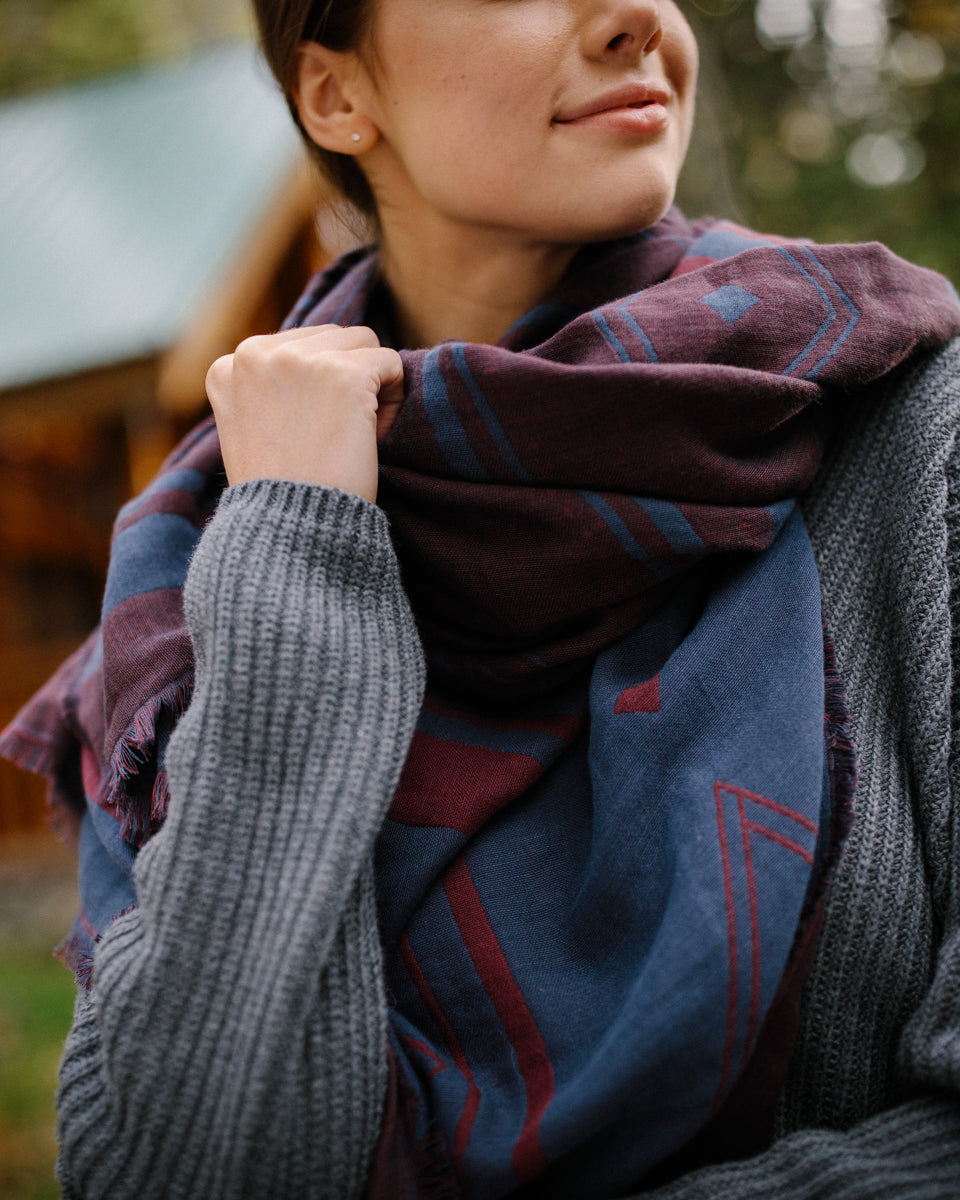
[[(667, 271), (658, 282), (648, 254)], [(577, 311), (574, 278), (598, 308)], [(329, 319), (341, 290), (304, 323)], [(564, 678), (664, 600), (650, 564), (624, 564), (610, 536), (655, 539), (634, 497), (679, 502), (709, 528), (709, 554), (751, 548), (766, 506), (810, 486), (824, 409), (956, 319), (944, 280), (882, 246), (799, 246), (672, 214), (584, 253), (500, 344), (404, 352), (379, 503), (434, 671), (492, 700)]]

